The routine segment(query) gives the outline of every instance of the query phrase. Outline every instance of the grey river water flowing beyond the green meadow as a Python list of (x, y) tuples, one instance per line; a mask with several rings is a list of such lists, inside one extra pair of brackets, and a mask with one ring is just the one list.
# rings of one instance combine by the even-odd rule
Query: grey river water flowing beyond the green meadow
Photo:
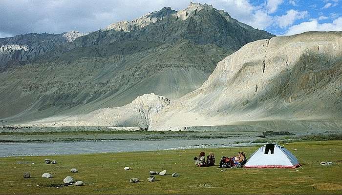
[[(0, 143), (0, 156), (52, 156), (206, 147), (213, 148), (237, 145), (234, 144), (235, 141), (237, 141), (236, 138)], [(239, 141), (241, 141), (241, 139), (239, 139)]]

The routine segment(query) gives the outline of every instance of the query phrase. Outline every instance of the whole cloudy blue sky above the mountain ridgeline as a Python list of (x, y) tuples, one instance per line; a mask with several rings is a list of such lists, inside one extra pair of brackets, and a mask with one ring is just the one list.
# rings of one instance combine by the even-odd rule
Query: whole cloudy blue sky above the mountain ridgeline
[[(275, 35), (342, 31), (342, 0), (198, 0)], [(0, 0), (0, 38), (25, 33), (92, 32), (189, 0)]]

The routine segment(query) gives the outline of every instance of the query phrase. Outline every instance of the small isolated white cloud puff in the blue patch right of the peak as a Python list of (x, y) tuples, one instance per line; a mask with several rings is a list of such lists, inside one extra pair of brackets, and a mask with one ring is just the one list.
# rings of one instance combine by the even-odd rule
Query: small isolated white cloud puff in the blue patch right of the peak
[(286, 15), (277, 16), (276, 21), (280, 28), (285, 28), (291, 24), (293, 24), (296, 20), (303, 19), (307, 17), (309, 14), (307, 11), (299, 12), (297, 10), (288, 10)]

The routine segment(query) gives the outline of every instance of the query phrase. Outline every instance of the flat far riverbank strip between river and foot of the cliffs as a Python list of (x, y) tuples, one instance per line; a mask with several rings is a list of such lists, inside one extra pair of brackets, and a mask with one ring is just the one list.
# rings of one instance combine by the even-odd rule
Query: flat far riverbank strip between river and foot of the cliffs
[[(298, 140), (312, 135), (341, 135), (339, 131), (270, 131), (245, 129), (216, 131), (147, 131), (121, 127), (15, 127), (1, 126), (0, 143), (6, 142), (61, 142), (100, 140), (170, 140), (170, 139), (235, 139), (241, 142), (269, 140)], [(330, 139), (328, 139), (330, 140)]]

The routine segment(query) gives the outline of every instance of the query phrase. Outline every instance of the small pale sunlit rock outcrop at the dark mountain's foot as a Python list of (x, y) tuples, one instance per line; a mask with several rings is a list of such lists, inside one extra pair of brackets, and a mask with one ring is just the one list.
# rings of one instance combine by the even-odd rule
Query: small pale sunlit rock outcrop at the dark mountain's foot
[(28, 126), (112, 126), (139, 127), (147, 129), (150, 118), (169, 105), (171, 100), (155, 94), (144, 94), (131, 103), (116, 107), (102, 108), (86, 115), (49, 117), (21, 124)]

